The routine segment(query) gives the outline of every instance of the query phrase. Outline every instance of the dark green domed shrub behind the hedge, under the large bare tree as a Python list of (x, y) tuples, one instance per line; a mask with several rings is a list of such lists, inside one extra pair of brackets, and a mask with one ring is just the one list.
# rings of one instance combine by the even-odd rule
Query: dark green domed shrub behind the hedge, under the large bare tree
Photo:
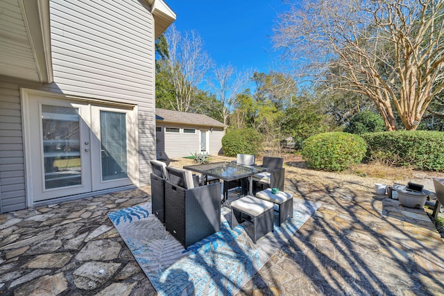
[(383, 132), (384, 130), (386, 130), (386, 127), (381, 115), (371, 111), (363, 111), (350, 119), (350, 123), (345, 127), (344, 132), (364, 134), (366, 132)]

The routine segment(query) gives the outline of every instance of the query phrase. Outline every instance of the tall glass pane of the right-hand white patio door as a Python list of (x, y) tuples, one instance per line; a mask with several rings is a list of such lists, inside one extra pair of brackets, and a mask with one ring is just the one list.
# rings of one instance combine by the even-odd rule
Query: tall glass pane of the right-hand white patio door
[(128, 177), (126, 113), (100, 112), (102, 180)]

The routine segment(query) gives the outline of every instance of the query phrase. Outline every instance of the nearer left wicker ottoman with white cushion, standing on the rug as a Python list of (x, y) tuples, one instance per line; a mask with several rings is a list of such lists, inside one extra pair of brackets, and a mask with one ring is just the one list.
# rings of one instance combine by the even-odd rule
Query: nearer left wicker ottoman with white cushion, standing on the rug
[(242, 223), (244, 220), (250, 220), (253, 223), (253, 234), (248, 236), (253, 243), (273, 231), (273, 203), (246, 195), (239, 200), (234, 200), (231, 206), (231, 229)]

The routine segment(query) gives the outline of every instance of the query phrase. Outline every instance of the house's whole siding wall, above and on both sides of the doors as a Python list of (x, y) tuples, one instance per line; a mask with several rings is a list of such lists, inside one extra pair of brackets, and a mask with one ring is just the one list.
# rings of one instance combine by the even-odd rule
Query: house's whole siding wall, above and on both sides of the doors
[(0, 77), (0, 212), (26, 207), (20, 88), (135, 106), (139, 184), (155, 158), (154, 22), (140, 1), (52, 0), (54, 82)]

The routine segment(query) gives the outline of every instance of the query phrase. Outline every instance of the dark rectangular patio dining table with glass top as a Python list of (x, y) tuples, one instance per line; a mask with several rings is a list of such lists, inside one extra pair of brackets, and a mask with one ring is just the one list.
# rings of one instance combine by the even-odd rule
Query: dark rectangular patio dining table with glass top
[(248, 194), (253, 194), (253, 175), (266, 171), (262, 166), (246, 166), (235, 162), (213, 162), (211, 164), (196, 164), (183, 168), (201, 174), (201, 183), (205, 184), (207, 176), (223, 180), (223, 204), (228, 199), (228, 182), (248, 177), (250, 184)]

